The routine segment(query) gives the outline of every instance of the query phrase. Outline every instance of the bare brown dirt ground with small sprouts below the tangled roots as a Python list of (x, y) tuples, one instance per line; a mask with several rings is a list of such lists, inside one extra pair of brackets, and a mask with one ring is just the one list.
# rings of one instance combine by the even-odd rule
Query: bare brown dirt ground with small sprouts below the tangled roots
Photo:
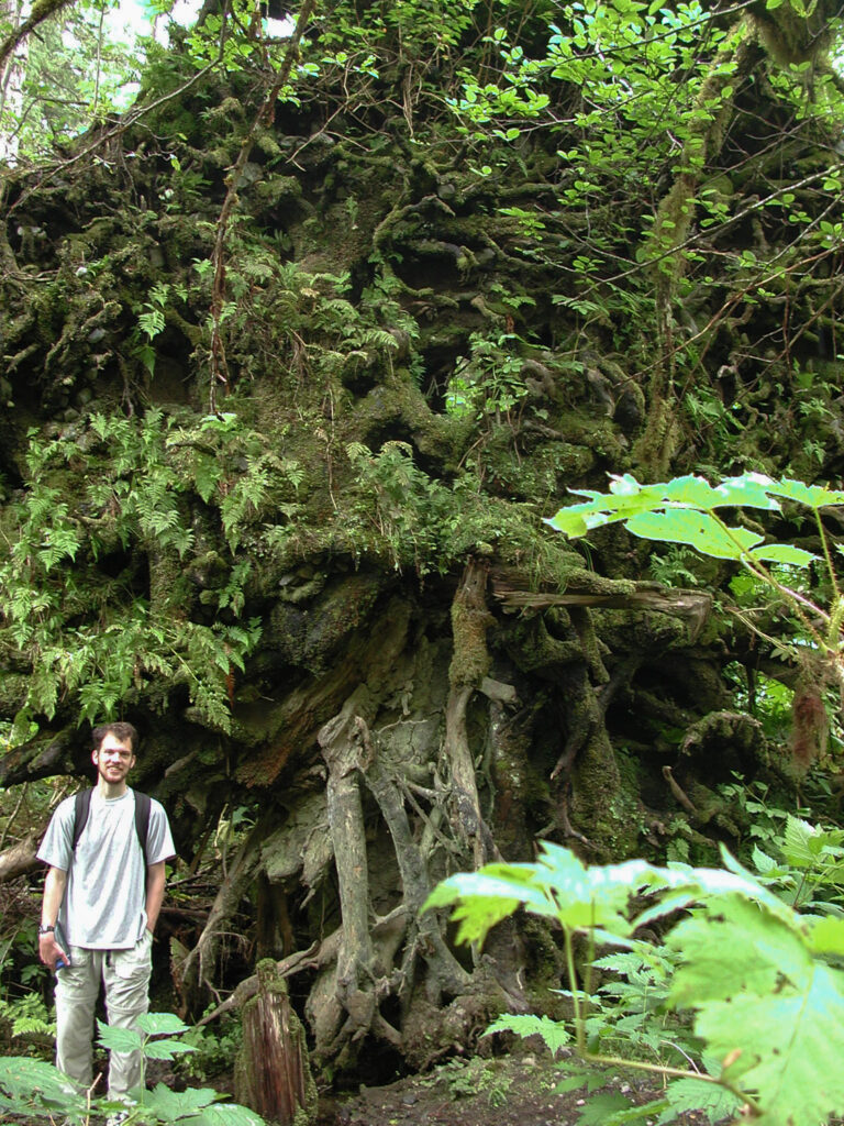
[[(585, 1090), (555, 1092), (564, 1074), (545, 1052), (452, 1061), (430, 1075), (324, 1098), (318, 1126), (576, 1126)], [(608, 1072), (607, 1080), (604, 1094), (627, 1094), (636, 1103), (658, 1096), (653, 1088), (632, 1088), (628, 1076)], [(680, 1120), (697, 1126), (706, 1118), (686, 1115)]]

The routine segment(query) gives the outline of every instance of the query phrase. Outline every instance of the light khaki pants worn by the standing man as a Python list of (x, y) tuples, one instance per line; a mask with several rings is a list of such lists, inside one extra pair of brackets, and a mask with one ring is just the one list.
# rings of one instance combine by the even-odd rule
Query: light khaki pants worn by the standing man
[[(72, 946), (71, 965), (56, 974), (56, 1067), (87, 1089), (92, 1081), (93, 1012), (100, 984), (106, 988), (106, 1013), (113, 1028), (133, 1028), (150, 1007), (152, 935), (129, 950), (89, 950)], [(125, 1098), (144, 1081), (140, 1052), (111, 1052), (109, 1098)]]

